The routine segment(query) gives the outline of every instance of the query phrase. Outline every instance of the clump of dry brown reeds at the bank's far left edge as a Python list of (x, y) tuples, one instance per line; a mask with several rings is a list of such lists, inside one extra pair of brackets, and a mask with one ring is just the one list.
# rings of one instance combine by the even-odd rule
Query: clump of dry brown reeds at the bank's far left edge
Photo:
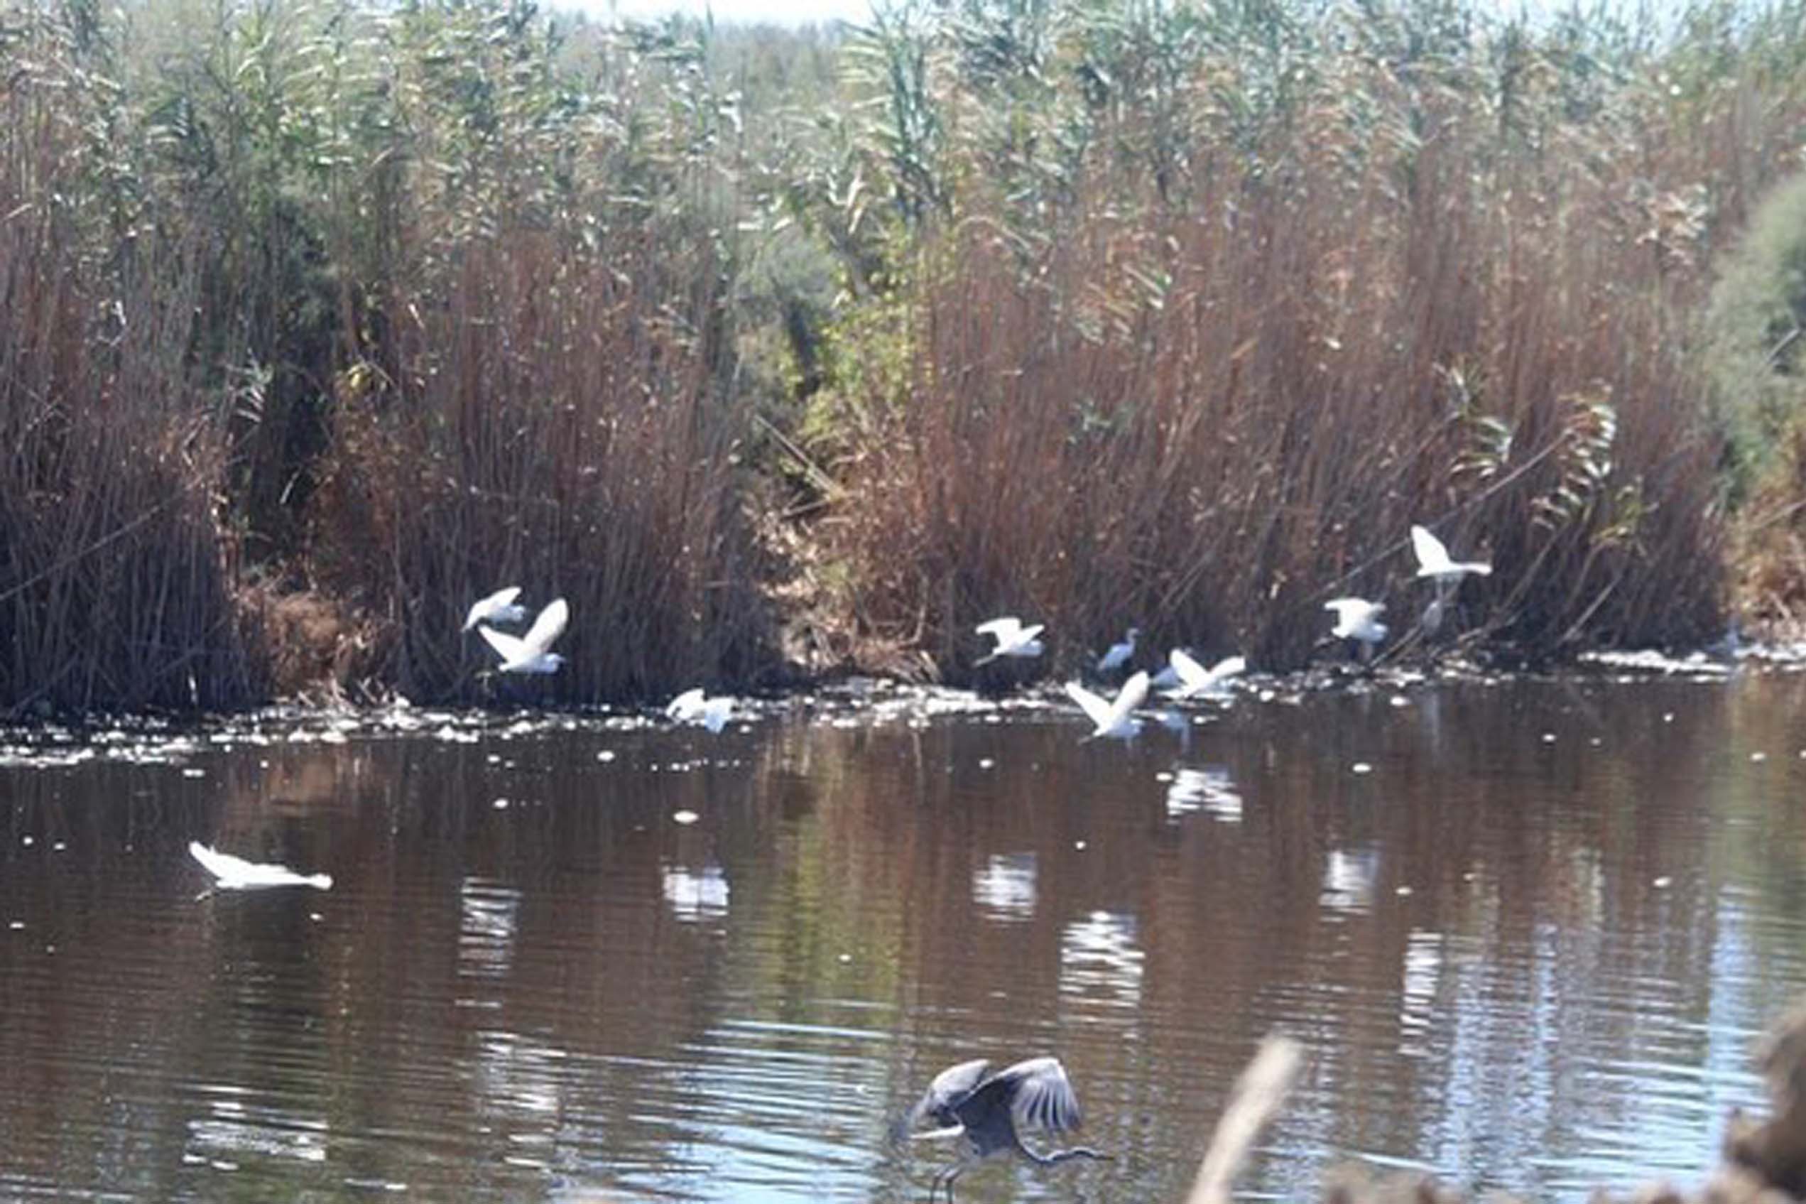
[(240, 706), (262, 682), (184, 379), (193, 256), (88, 255), (81, 99), (54, 72), (0, 92), (0, 709)]

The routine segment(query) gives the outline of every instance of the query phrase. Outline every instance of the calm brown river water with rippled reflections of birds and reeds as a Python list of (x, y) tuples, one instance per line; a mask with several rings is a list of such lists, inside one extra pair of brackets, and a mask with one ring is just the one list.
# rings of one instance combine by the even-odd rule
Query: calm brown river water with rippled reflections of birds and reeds
[[(1257, 1197), (1351, 1157), (1685, 1182), (1763, 1099), (1750, 1042), (1806, 987), (1806, 681), (1199, 717), (16, 736), (0, 1199), (919, 1200), (939, 1152), (889, 1119), (1058, 1052), (1120, 1159), (961, 1200), (1179, 1200), (1273, 1027), (1311, 1060)], [(197, 838), (334, 886), (197, 899)]]

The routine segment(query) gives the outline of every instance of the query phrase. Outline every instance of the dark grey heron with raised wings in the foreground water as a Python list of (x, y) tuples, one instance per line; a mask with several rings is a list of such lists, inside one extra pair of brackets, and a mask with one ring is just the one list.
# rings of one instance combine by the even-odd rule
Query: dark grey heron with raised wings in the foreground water
[(916, 1126), (932, 1119), (937, 1128), (914, 1135), (964, 1137), (964, 1157), (937, 1172), (928, 1186), (930, 1204), (943, 1182), (946, 1204), (954, 1204), (954, 1181), (968, 1164), (982, 1162), (993, 1153), (1015, 1152), (1038, 1166), (1067, 1159), (1111, 1161), (1109, 1153), (1087, 1146), (1037, 1153), (1022, 1144), (1019, 1126), (1064, 1132), (1080, 1125), (1078, 1096), (1058, 1058), (1029, 1058), (995, 1074), (990, 1069), (990, 1061), (977, 1058), (941, 1070), (898, 1126), (899, 1134), (914, 1134)]

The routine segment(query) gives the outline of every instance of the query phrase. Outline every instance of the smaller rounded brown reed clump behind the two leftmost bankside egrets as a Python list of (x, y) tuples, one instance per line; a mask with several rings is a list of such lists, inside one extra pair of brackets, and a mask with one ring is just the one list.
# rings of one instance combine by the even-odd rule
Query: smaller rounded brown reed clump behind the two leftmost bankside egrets
[(598, 255), (535, 231), (477, 240), (401, 307), (419, 318), (397, 332), (399, 377), (347, 375), (316, 558), (392, 632), (370, 671), (412, 697), (482, 697), (493, 657), (459, 626), (502, 585), (571, 603), (569, 662), (535, 697), (760, 668), (742, 415), (717, 384), (712, 298), (677, 303), (672, 278), (708, 274), (650, 236)]

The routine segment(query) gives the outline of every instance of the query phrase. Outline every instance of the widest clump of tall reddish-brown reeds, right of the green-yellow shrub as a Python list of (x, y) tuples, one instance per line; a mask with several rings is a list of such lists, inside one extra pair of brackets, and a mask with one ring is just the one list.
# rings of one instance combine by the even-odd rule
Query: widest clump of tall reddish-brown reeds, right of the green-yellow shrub
[(923, 255), (824, 527), (876, 632), (952, 668), (1020, 612), (1289, 666), (1338, 592), (1409, 626), (1414, 522), (1495, 561), (1463, 625), (1526, 655), (1714, 630), (1690, 199), (1770, 135), (1627, 114), (1517, 148), (1470, 94), (1398, 92), (1336, 60), (1259, 175), (1206, 143), (1183, 209), (1093, 182), (1038, 244), (973, 218)]

